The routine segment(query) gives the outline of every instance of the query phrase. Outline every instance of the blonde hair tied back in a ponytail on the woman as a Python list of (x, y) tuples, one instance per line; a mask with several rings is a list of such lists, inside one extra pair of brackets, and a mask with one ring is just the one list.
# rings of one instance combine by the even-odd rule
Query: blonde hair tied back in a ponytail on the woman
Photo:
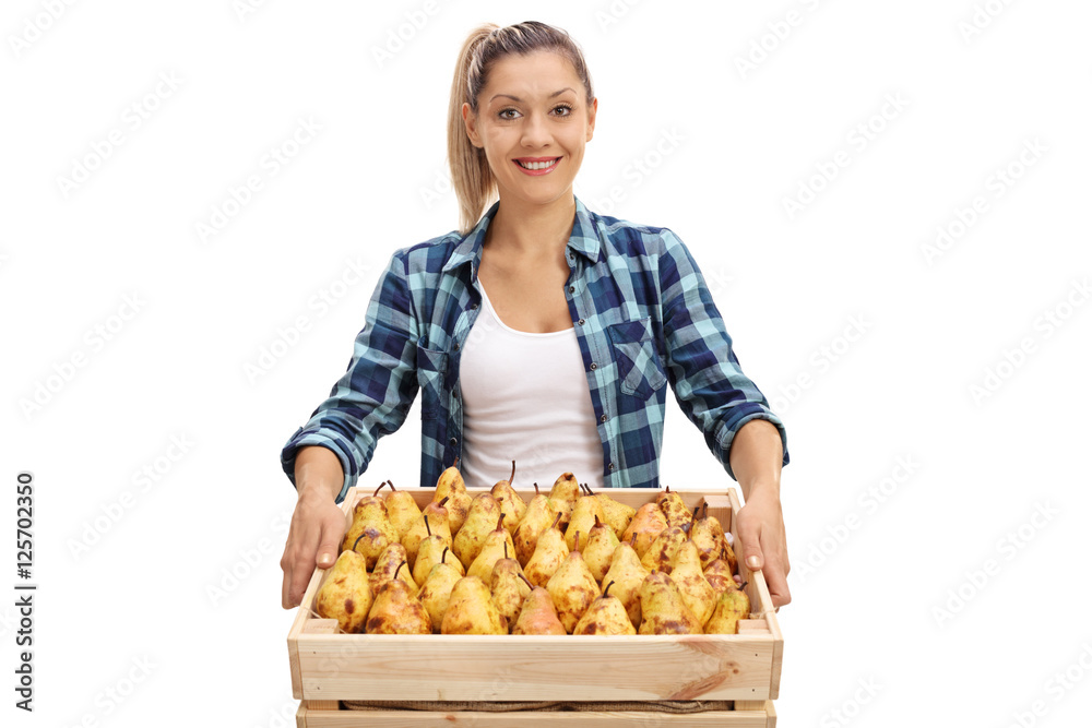
[(448, 165), (459, 198), (459, 230), (464, 235), (477, 224), (486, 205), (497, 199), (497, 180), (489, 169), (485, 150), (474, 146), (466, 135), (463, 104), (470, 104), (471, 111), (477, 114), (477, 97), (486, 86), (492, 64), (512, 53), (526, 56), (537, 50), (558, 53), (572, 63), (591, 105), (595, 96), (584, 55), (561, 28), (537, 21), (507, 27), (486, 23), (471, 32), (459, 52), (448, 107)]

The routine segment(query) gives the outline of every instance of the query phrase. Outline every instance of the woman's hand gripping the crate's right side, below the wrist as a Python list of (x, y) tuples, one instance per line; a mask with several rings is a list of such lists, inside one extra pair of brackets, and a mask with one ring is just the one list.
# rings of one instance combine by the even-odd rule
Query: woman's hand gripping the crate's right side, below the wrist
[(788, 594), (788, 547), (776, 489), (751, 489), (747, 503), (739, 511), (737, 533), (737, 558), (751, 571), (762, 572), (774, 607), (787, 605), (793, 600)]

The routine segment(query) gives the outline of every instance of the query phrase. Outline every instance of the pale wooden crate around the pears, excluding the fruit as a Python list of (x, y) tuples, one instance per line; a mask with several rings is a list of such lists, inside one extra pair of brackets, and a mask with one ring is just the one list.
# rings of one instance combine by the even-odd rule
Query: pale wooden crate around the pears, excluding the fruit
[[(472, 488), (470, 492), (486, 490)], [(531, 490), (517, 491), (524, 500), (534, 496)], [(370, 492), (348, 491), (342, 504), (346, 524), (352, 522), (356, 502)], [(411, 492), (422, 508), (431, 501), (430, 490)], [(613, 498), (633, 508), (656, 494), (643, 489), (610, 491)], [(679, 496), (691, 509), (708, 503), (709, 513), (739, 542), (734, 514), (740, 504), (735, 490), (679, 491)], [(744, 723), (732, 725), (773, 725), (755, 723), (765, 709), (755, 706), (778, 697), (784, 643), (761, 572), (751, 572), (741, 559), (739, 569), (748, 582), (752, 610), (752, 619), (740, 622), (739, 634), (628, 636), (335, 634), (336, 621), (313, 612), (327, 573), (316, 570), (288, 633), (293, 695), (304, 701), (308, 726), (356, 725), (336, 717), (341, 700), (731, 700), (749, 706), (739, 712), (748, 715), (733, 718)], [(369, 720), (379, 718), (376, 713), (365, 715)], [(488, 723), (490, 714), (477, 715), (480, 725), (501, 725)], [(542, 725), (553, 725), (560, 718), (550, 716), (559, 715), (571, 720), (578, 714), (541, 714)], [(705, 725), (698, 723), (699, 715), (648, 715)], [(606, 720), (602, 725), (615, 725), (612, 714), (600, 717)], [(415, 715), (411, 724), (392, 716), (392, 723), (368, 725), (434, 725), (428, 719)], [(447, 720), (442, 725), (451, 725), (450, 718), (442, 719)]]

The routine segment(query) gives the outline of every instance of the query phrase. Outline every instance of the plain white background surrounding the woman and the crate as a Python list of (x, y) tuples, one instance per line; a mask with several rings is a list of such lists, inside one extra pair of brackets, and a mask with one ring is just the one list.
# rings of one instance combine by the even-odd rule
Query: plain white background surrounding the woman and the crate
[[(463, 38), (527, 17), (592, 70), (578, 196), (687, 242), (787, 425), (780, 725), (1092, 712), (1088, 3), (49, 4), (0, 15), (0, 583), (14, 594), (25, 469), (39, 585), (33, 716), (0, 599), (4, 720), (287, 723), (280, 447), (344, 370), (390, 253), (455, 227)], [(300, 119), (321, 130), (271, 175)], [(262, 189), (202, 240), (250, 175)], [(958, 235), (930, 256), (938, 226)], [(248, 374), (263, 350), (283, 356)], [(664, 480), (727, 486), (669, 406)], [(416, 480), (416, 419), (366, 482)]]

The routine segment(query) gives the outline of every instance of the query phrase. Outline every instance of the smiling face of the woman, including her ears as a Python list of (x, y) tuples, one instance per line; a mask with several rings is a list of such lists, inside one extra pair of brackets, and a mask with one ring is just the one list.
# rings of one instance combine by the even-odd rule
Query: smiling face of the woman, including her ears
[(568, 59), (542, 51), (508, 56), (489, 70), (477, 114), (463, 104), (471, 142), (485, 150), (501, 200), (546, 204), (572, 195), (595, 128), (597, 100)]

